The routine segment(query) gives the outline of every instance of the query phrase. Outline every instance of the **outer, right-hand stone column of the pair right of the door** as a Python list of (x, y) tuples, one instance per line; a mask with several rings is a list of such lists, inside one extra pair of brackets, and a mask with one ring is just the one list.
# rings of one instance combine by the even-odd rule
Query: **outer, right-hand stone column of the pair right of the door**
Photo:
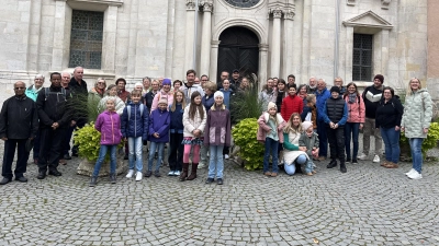
[(285, 14), (283, 15), (284, 22), (283, 22), (283, 33), (285, 35), (285, 37), (283, 38), (283, 71), (282, 71), (282, 75), (279, 74), (279, 77), (281, 78), (285, 78), (295, 72), (295, 69), (293, 69), (293, 38), (294, 38), (294, 22), (293, 22), (293, 17), (294, 17), (294, 12), (289, 10), (285, 12)]

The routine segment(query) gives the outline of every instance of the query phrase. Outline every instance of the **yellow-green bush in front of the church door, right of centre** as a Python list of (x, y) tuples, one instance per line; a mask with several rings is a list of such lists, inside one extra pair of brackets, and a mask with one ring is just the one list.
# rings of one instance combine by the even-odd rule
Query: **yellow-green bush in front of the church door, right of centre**
[(238, 155), (246, 161), (246, 169), (260, 169), (263, 167), (264, 147), (256, 140), (258, 132), (256, 118), (243, 119), (232, 129), (235, 144), (239, 147)]

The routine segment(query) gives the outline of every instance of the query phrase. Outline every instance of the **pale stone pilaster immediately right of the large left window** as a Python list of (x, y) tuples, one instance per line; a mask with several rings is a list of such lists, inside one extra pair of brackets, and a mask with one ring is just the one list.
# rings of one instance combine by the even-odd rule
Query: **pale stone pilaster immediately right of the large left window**
[(114, 73), (116, 57), (117, 7), (109, 5), (104, 13), (102, 37), (102, 71)]

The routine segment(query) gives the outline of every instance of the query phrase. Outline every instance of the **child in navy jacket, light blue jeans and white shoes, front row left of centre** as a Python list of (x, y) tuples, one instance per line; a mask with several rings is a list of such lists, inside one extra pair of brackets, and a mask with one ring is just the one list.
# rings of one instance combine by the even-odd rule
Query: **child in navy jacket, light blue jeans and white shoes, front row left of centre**
[[(131, 102), (122, 114), (122, 136), (128, 140), (128, 174), (132, 178), (136, 174), (136, 181), (142, 180), (142, 147), (148, 137), (148, 108), (140, 103), (142, 91), (134, 90), (131, 93)], [(135, 155), (135, 156), (134, 156)], [(135, 159), (135, 161), (134, 161)], [(134, 171), (136, 169), (136, 172)]]

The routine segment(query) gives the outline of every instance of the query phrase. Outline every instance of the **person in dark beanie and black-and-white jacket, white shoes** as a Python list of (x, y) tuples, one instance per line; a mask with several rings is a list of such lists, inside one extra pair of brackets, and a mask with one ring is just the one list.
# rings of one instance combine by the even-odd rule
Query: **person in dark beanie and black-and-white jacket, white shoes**
[(373, 78), (373, 85), (365, 87), (362, 95), (365, 107), (365, 119), (363, 126), (363, 153), (361, 153), (358, 159), (368, 159), (370, 150), (370, 136), (373, 133), (375, 137), (375, 154), (373, 156), (374, 163), (380, 162), (380, 152), (382, 150), (383, 141), (380, 129), (375, 128), (375, 113), (383, 94), (383, 83), (384, 77), (376, 74), (375, 78)]

